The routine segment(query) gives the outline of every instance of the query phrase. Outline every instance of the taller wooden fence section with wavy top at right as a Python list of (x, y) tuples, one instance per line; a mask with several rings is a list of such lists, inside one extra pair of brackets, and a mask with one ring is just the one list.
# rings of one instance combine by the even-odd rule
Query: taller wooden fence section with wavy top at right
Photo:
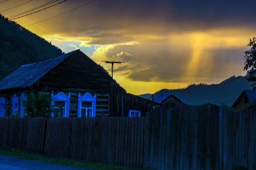
[(156, 109), (145, 120), (145, 141), (145, 166), (155, 169), (255, 170), (256, 109)]

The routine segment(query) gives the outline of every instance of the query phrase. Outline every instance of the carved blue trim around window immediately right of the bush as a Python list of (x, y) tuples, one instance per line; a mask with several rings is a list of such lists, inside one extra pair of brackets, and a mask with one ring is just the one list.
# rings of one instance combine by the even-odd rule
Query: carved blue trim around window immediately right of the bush
[[(62, 92), (59, 92), (58, 94), (54, 95), (54, 92), (52, 91), (52, 102), (51, 102), (52, 106), (54, 106), (54, 101), (64, 101), (66, 103), (64, 117), (68, 118), (69, 106), (70, 106), (70, 92), (69, 92), (69, 96), (66, 96)], [(51, 117), (54, 117), (54, 112), (51, 112)]]

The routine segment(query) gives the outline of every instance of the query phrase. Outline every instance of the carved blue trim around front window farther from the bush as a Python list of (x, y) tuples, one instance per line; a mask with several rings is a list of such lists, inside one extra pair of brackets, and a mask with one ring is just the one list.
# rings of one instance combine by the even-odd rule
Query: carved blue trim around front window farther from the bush
[(85, 93), (84, 96), (78, 94), (78, 118), (81, 118), (82, 102), (92, 102), (92, 117), (96, 117), (96, 94), (94, 96), (90, 93)]

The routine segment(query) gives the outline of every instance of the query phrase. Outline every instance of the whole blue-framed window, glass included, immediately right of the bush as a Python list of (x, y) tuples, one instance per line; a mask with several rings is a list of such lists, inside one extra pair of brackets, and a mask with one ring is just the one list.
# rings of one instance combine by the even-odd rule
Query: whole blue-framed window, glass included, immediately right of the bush
[(54, 95), (52, 91), (52, 113), (51, 117), (69, 117), (70, 93), (66, 96), (64, 93)]

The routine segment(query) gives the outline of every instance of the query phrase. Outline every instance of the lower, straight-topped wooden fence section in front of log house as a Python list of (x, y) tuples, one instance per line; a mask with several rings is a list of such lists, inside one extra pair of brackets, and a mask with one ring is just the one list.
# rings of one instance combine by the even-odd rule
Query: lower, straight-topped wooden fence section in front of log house
[(1, 118), (0, 147), (90, 163), (143, 166), (144, 118)]

